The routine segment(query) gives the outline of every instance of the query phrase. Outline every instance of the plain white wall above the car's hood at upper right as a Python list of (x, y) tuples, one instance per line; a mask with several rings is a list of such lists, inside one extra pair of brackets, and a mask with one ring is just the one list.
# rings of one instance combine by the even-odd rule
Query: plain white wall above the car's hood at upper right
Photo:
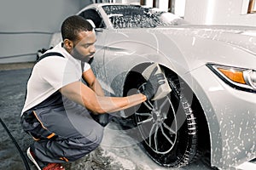
[(184, 19), (192, 24), (256, 26), (256, 14), (245, 14), (248, 0), (186, 0)]

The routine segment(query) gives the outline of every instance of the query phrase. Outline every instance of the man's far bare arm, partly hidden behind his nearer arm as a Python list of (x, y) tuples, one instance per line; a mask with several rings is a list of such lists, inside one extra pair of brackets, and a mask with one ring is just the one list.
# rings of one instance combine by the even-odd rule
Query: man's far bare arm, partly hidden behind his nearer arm
[(84, 81), (87, 82), (90, 89), (92, 89), (98, 96), (104, 96), (101, 84), (97, 81), (93, 71), (89, 69), (83, 72)]

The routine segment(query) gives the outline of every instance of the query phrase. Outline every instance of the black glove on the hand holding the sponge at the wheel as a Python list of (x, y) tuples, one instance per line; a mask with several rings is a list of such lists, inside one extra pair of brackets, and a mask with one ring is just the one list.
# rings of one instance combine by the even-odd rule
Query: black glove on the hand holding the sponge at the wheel
[(147, 97), (147, 100), (152, 99), (160, 85), (165, 83), (165, 77), (163, 73), (158, 73), (154, 75), (156, 71), (157, 67), (155, 67), (152, 73), (150, 74), (150, 77), (148, 78), (148, 81), (145, 85), (145, 89), (142, 92), (142, 94), (144, 94)]

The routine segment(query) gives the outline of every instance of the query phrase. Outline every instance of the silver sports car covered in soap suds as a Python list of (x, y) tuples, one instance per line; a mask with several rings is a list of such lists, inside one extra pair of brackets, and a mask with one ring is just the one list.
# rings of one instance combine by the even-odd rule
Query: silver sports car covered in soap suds
[[(91, 4), (78, 15), (96, 25), (91, 66), (109, 95), (143, 90), (142, 72), (152, 63), (165, 72), (170, 96), (120, 113), (134, 121), (155, 162), (181, 167), (202, 148), (219, 169), (256, 157), (254, 27), (193, 26), (154, 8), (113, 3)], [(169, 24), (161, 24), (163, 16)]]

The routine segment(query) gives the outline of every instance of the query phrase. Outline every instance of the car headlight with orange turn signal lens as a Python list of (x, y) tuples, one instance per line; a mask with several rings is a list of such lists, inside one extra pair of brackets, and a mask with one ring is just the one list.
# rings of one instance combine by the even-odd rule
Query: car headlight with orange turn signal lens
[(256, 93), (256, 71), (214, 64), (207, 64), (207, 67), (232, 88)]

